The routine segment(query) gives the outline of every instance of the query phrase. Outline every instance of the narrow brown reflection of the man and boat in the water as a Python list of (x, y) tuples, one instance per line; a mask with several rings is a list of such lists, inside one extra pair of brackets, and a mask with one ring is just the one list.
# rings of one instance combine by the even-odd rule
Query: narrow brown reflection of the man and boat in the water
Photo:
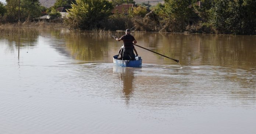
[(123, 85), (122, 92), (124, 94), (125, 101), (128, 104), (134, 91), (134, 68), (123, 68), (119, 66), (113, 66), (113, 72), (118, 73), (118, 78)]

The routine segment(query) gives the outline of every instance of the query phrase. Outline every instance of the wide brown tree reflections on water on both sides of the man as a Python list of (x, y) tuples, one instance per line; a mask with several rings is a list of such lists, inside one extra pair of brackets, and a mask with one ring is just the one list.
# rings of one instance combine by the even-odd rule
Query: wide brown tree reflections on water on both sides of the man
[[(49, 43), (57, 51), (85, 62), (112, 62), (112, 56), (117, 54), (121, 43), (115, 41), (111, 35), (120, 37), (123, 34), (114, 31), (98, 34), (93, 31), (80, 30), (51, 30), (40, 33), (45, 36), (45, 41), (50, 39)], [(167, 57), (179, 59), (181, 65), (242, 66), (245, 68), (248, 66), (254, 68), (256, 65), (255, 36), (146, 32), (135, 32), (132, 35), (138, 41), (138, 45)], [(177, 64), (142, 48), (138, 48), (137, 51), (143, 57), (144, 63)]]

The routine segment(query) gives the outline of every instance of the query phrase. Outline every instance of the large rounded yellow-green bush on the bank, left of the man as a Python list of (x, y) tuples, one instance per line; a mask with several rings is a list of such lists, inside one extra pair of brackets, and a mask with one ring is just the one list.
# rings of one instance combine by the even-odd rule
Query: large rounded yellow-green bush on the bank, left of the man
[(71, 4), (66, 23), (71, 28), (93, 29), (100, 21), (110, 16), (112, 4), (108, 0), (77, 0)]

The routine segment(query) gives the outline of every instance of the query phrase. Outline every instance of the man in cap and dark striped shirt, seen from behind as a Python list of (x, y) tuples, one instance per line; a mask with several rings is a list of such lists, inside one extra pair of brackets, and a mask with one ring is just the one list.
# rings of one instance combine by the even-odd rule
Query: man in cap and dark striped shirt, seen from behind
[(123, 35), (120, 39), (115, 37), (115, 40), (117, 41), (123, 41), (123, 48), (121, 47), (121, 49), (123, 49), (122, 52), (122, 59), (123, 60), (134, 60), (135, 59), (135, 55), (134, 55), (134, 51), (136, 53), (136, 56), (138, 56), (138, 53), (134, 47), (133, 44), (136, 44), (137, 41), (135, 40), (134, 36), (132, 36), (130, 34), (130, 29), (126, 29), (125, 30), (125, 35)]

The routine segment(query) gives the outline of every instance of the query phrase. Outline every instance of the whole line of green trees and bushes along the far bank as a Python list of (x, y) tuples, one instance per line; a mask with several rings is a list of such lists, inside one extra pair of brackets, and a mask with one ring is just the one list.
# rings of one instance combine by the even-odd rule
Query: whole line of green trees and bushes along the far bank
[[(156, 6), (135, 4), (129, 14), (112, 14), (115, 6), (127, 0), (56, 0), (46, 8), (38, 0), (20, 0), (20, 21), (35, 21), (44, 14), (59, 18), (58, 7), (68, 12), (63, 23), (71, 29), (122, 30), (135, 26), (152, 32), (256, 34), (256, 0), (164, 0)], [(18, 0), (0, 3), (0, 23), (18, 22)]]

